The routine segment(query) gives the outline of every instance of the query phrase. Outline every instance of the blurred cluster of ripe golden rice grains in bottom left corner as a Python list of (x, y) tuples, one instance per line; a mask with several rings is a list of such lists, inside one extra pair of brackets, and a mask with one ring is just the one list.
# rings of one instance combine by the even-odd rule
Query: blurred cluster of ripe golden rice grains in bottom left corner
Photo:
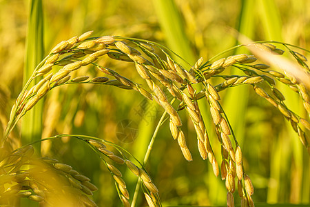
[(92, 195), (92, 191), (98, 188), (90, 183), (88, 177), (56, 159), (36, 159), (33, 153), (33, 147), (26, 146), (2, 159), (0, 167), (7, 173), (1, 175), (1, 186), (6, 186), (1, 189), (1, 204), (8, 202), (10, 205), (14, 199), (27, 197), (54, 206), (59, 199), (70, 201), (72, 197), (79, 197), (76, 199), (76, 203), (78, 200), (82, 202), (79, 206), (96, 206), (87, 195)]

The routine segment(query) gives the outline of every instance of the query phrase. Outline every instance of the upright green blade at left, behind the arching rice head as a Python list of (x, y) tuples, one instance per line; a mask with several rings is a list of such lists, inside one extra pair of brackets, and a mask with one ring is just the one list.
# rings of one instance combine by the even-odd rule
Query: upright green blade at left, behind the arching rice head
[[(28, 81), (37, 64), (43, 59), (43, 6), (41, 0), (29, 2), (28, 30), (25, 46), (25, 66), (23, 72), (23, 83)], [(37, 80), (39, 81), (39, 80)], [(32, 83), (32, 86), (35, 84)], [(31, 87), (31, 86), (30, 86)], [(21, 137), (23, 143), (41, 139), (42, 128), (42, 102), (30, 110), (23, 117)]]

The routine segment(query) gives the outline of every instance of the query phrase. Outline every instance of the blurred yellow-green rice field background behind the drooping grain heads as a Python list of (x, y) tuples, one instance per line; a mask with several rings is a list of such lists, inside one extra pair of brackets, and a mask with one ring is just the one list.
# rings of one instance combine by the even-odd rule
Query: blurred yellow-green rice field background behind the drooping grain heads
[[(22, 88), (29, 3), (0, 0), (1, 130), (5, 128), (10, 108)], [(307, 0), (54, 0), (42, 3), (45, 55), (60, 41), (88, 30), (94, 30), (93, 36), (120, 35), (156, 41), (191, 64), (200, 57), (206, 61), (236, 46), (238, 42), (228, 28), (234, 28), (253, 40), (284, 41), (310, 48), (310, 1)], [(143, 83), (137, 78), (132, 64), (109, 59), (100, 63)], [(78, 75), (95, 77), (103, 74), (95, 68), (85, 68), (78, 70)], [(298, 97), (287, 87), (279, 87), (287, 98), (285, 103), (294, 112), (307, 117)], [(231, 88), (220, 95), (242, 146), (245, 171), (255, 188), (254, 202), (309, 204), (309, 155), (280, 112), (248, 86)], [(146, 101), (137, 92), (109, 86), (56, 88), (41, 103), (42, 137), (60, 133), (100, 137), (123, 146), (140, 161), (143, 161), (156, 122), (163, 113), (156, 103)], [(209, 122), (208, 132), (213, 135), (208, 106), (203, 107), (204, 104), (202, 101), (202, 112)], [(159, 189), (163, 206), (225, 206), (225, 181), (214, 177), (209, 162), (200, 158), (194, 127), (187, 122), (184, 112), (181, 112), (181, 118), (194, 161), (185, 161), (165, 123), (146, 166)], [(117, 126), (125, 119), (133, 121), (138, 130), (134, 141), (116, 137)], [(12, 132), (15, 146), (20, 142), (27, 143), (20, 139), (21, 135), (19, 123)], [(220, 147), (216, 137), (210, 139), (219, 159)], [(94, 193), (94, 201), (99, 206), (121, 206), (110, 172), (85, 144), (73, 139), (45, 141), (41, 144), (41, 153), (90, 177), (99, 187)], [(123, 170), (132, 196), (136, 177), (126, 172), (123, 166), (119, 168)], [(238, 193), (235, 200), (238, 204)], [(138, 206), (146, 205), (144, 199), (139, 199)]]

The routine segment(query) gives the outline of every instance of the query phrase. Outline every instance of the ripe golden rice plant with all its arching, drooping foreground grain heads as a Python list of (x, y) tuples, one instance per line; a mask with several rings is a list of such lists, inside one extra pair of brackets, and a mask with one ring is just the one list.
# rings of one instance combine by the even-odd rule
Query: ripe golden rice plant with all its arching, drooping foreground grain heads
[[(307, 131), (310, 130), (309, 121), (287, 107), (284, 102), (285, 95), (278, 88), (277, 82), (284, 83), (300, 96), (307, 110), (307, 117), (310, 112), (309, 84), (300, 81), (300, 77), (295, 74), (272, 70), (267, 64), (258, 61), (259, 54), (267, 54), (269, 57), (282, 55), (285, 50), (277, 47), (282, 46), (302, 66), (304, 76), (309, 79), (307, 58), (296, 51), (309, 52), (308, 50), (278, 41), (260, 41), (225, 50), (205, 62), (200, 58), (194, 66), (191, 66), (189, 63), (187, 65), (178, 63), (182, 60), (178, 55), (154, 41), (119, 36), (91, 37), (91, 35), (92, 31), (85, 32), (79, 37), (72, 37), (54, 46), (49, 55), (33, 70), (12, 106), (10, 119), (1, 139), (2, 204), (14, 205), (17, 204), (19, 197), (28, 197), (47, 206), (64, 203), (66, 206), (96, 206), (88, 196), (98, 188), (90, 183), (88, 177), (56, 159), (32, 156), (34, 153), (32, 145), (70, 137), (82, 141), (100, 157), (114, 179), (118, 196), (124, 206), (135, 206), (140, 187), (149, 206), (162, 206), (158, 188), (145, 169), (145, 164), (149, 159), (159, 127), (165, 122), (169, 122), (171, 137), (177, 141), (183, 157), (187, 161), (192, 161), (192, 152), (187, 146), (187, 138), (183, 132), (183, 120), (179, 115), (185, 111), (196, 131), (200, 157), (209, 161), (216, 177), (220, 176), (225, 180), (227, 206), (234, 206), (235, 191), (238, 192), (241, 206), (254, 206), (252, 199), (254, 186), (243, 164), (242, 148), (220, 102), (219, 92), (235, 86), (249, 86), (259, 97), (271, 103), (274, 110), (278, 110), (289, 121), (310, 154), (310, 140), (307, 136)], [(256, 55), (242, 53), (225, 57), (227, 52), (241, 47), (249, 48)], [(178, 59), (172, 58), (170, 54), (176, 55)], [(116, 72), (114, 68), (102, 66), (99, 59), (103, 57), (130, 63), (132, 65), (130, 70), (141, 77), (140, 81), (132, 81), (121, 75), (121, 72)], [(77, 70), (89, 65), (99, 70), (102, 76), (75, 76)], [(243, 74), (227, 75), (225, 72), (232, 67)], [(30, 84), (37, 79), (40, 81), (30, 87)], [(213, 79), (218, 83), (212, 84)], [(136, 159), (119, 144), (89, 135), (55, 135), (12, 149), (9, 136), (18, 121), (55, 88), (76, 84), (97, 84), (135, 90), (145, 99), (152, 100), (163, 108), (162, 118), (158, 121), (158, 127), (154, 131), (143, 161)], [(207, 119), (211, 119), (214, 123), (213, 129), (205, 126), (206, 118), (200, 113), (200, 99), (207, 101), (207, 108), (211, 114)], [(209, 130), (214, 130), (214, 137), (209, 137)], [(214, 138), (218, 140), (220, 146), (220, 157), (214, 154), (214, 146), (210, 141)], [(134, 195), (128, 192), (122, 172), (118, 169), (122, 165), (139, 178)]]

